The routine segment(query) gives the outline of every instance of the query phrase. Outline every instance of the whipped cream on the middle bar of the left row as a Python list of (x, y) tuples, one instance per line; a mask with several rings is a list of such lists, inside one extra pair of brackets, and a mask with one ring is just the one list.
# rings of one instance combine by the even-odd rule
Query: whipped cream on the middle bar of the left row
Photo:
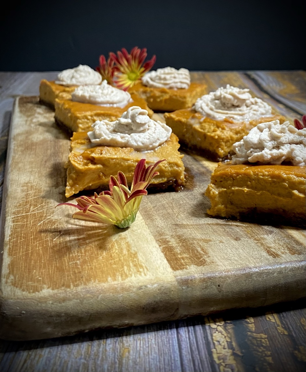
[(76, 102), (92, 103), (98, 106), (125, 107), (133, 102), (131, 94), (124, 90), (112, 87), (106, 80), (100, 85), (81, 85), (71, 94)]

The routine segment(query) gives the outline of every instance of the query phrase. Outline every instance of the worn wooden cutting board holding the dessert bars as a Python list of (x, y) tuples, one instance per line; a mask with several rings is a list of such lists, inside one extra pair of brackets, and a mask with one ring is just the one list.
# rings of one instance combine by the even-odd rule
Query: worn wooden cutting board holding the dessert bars
[(200, 156), (184, 156), (183, 191), (146, 196), (125, 230), (55, 209), (67, 200), (69, 138), (53, 116), (38, 97), (16, 100), (1, 214), (1, 338), (58, 337), (305, 295), (305, 231), (210, 218), (204, 192), (216, 163)]

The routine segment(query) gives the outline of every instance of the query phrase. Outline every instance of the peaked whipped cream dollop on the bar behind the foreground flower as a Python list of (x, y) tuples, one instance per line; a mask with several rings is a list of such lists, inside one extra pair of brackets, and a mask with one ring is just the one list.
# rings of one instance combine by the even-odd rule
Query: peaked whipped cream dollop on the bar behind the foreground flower
[(93, 131), (87, 134), (94, 144), (148, 151), (167, 141), (171, 128), (160, 121), (150, 119), (147, 110), (132, 106), (116, 121), (96, 121)]

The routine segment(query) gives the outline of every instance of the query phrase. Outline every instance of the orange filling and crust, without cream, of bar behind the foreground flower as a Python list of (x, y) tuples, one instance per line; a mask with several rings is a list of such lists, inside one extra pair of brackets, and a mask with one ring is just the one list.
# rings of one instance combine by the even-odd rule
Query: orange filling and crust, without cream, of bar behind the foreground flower
[(151, 151), (135, 151), (130, 147), (93, 146), (86, 132), (74, 133), (67, 168), (66, 197), (82, 190), (107, 189), (109, 177), (122, 171), (131, 185), (139, 160), (147, 164), (166, 159), (156, 169), (160, 174), (152, 180), (154, 189), (176, 188), (184, 184), (184, 164), (178, 151), (180, 145), (173, 133), (169, 140)]

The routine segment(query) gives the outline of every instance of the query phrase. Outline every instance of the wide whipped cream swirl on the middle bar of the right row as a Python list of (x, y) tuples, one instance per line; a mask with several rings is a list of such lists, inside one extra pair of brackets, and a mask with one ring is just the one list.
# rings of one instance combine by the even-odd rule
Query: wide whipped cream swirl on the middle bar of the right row
[(227, 84), (216, 92), (198, 98), (194, 109), (203, 116), (214, 120), (231, 119), (236, 122), (249, 122), (271, 116), (272, 108), (260, 98), (253, 98), (249, 89), (240, 89)]

